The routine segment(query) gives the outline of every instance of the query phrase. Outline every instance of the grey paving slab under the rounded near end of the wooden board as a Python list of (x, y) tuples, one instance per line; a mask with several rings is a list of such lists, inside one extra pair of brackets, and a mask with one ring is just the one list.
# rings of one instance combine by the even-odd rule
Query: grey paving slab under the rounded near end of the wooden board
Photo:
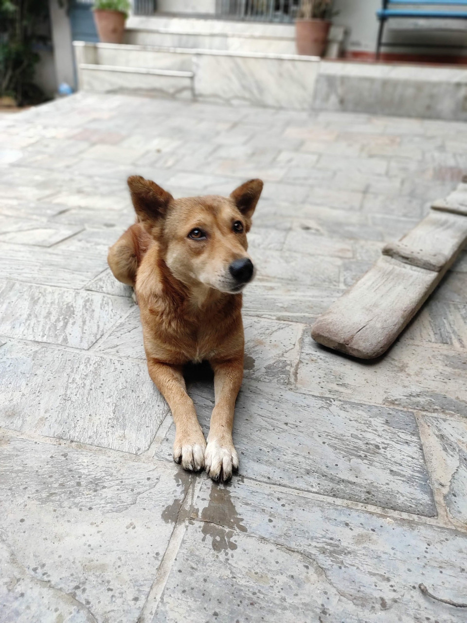
[(318, 396), (467, 416), (465, 351), (418, 345), (400, 336), (381, 359), (348, 358), (305, 331), (296, 388)]

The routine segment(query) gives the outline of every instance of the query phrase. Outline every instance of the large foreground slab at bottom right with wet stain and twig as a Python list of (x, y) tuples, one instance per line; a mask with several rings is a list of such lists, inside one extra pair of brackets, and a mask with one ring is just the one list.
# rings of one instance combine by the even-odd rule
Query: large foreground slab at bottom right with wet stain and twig
[(196, 505), (153, 623), (465, 621), (418, 589), (463, 601), (463, 533), (248, 480), (206, 482)]

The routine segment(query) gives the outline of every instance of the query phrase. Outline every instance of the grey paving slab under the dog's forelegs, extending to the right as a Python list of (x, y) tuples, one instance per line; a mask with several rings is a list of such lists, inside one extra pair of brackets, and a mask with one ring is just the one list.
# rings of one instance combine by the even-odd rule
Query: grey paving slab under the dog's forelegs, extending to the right
[[(331, 497), (436, 514), (411, 412), (307, 396), (245, 379), (235, 407), (240, 475)], [(205, 432), (209, 383), (189, 387)], [(172, 460), (171, 427), (158, 456)]]

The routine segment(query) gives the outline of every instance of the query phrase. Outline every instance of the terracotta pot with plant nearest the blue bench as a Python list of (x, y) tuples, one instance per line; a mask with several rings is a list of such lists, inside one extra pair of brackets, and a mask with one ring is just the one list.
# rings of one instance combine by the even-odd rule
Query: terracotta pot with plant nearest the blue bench
[(333, 0), (301, 0), (295, 21), (298, 54), (322, 56), (331, 27)]

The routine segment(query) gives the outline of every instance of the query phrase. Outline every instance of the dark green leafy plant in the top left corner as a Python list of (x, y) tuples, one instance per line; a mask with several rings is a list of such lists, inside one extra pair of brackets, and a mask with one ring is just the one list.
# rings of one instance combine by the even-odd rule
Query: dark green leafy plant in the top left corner
[(38, 43), (37, 25), (48, 17), (47, 0), (0, 0), (0, 97), (11, 97), (17, 105), (43, 102), (44, 93), (34, 84)]

